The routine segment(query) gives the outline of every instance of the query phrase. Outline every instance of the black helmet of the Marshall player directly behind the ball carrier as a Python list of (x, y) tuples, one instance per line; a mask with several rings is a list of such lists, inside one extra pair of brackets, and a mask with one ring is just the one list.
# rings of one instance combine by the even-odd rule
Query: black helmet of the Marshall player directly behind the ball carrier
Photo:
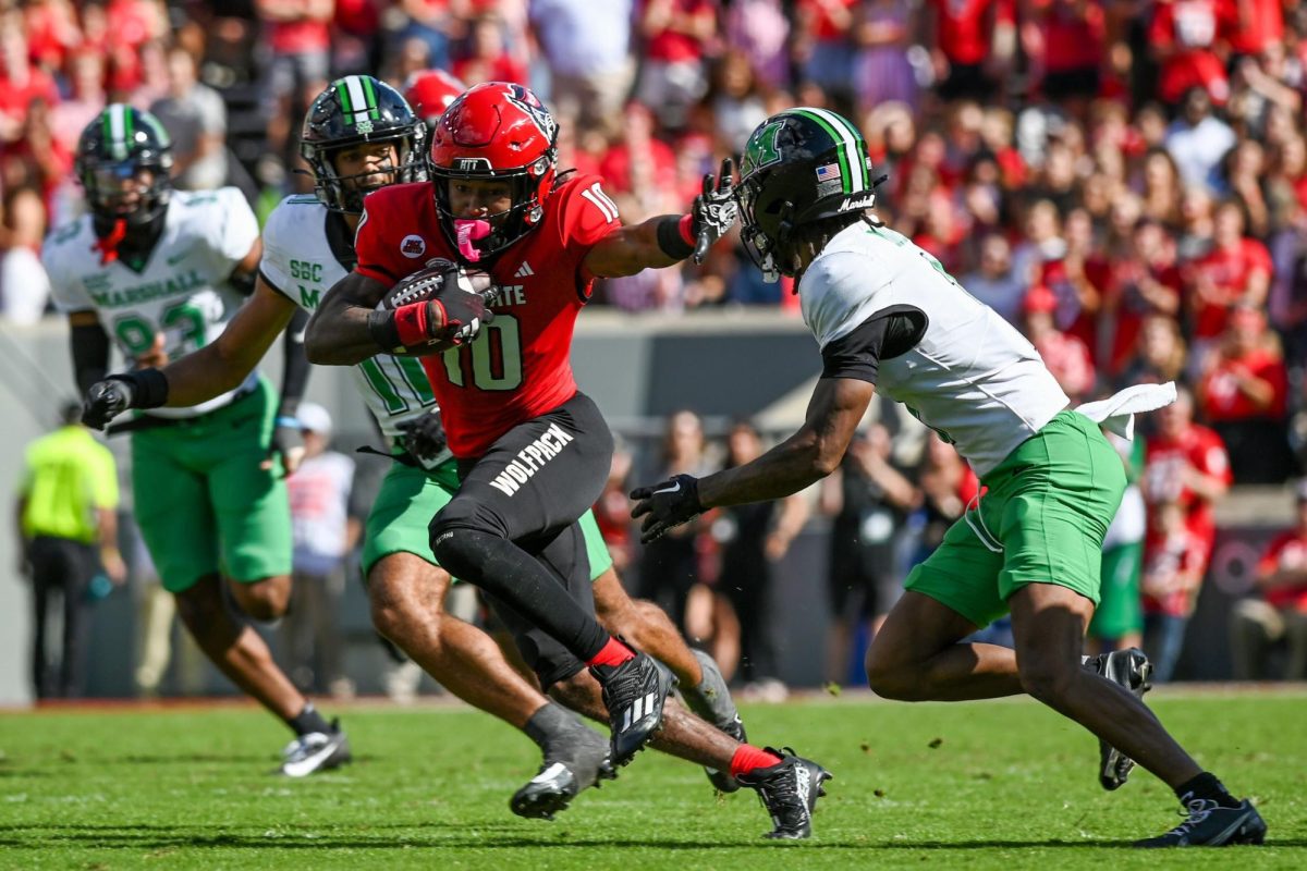
[[(340, 175), (332, 155), (361, 142), (392, 142), (393, 172)], [(336, 212), (359, 214), (370, 191), (426, 180), (426, 125), (397, 90), (371, 76), (339, 78), (314, 99), (299, 153), (314, 172), (314, 193)]]

